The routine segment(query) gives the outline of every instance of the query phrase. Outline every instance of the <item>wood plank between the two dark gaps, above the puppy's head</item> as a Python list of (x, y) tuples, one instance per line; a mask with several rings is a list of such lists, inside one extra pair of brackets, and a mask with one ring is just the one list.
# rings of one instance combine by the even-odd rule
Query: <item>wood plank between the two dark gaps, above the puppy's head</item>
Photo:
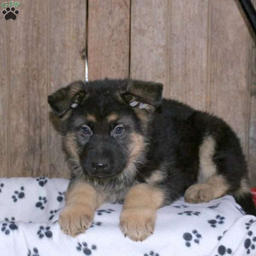
[(128, 77), (130, 0), (88, 3), (89, 80)]

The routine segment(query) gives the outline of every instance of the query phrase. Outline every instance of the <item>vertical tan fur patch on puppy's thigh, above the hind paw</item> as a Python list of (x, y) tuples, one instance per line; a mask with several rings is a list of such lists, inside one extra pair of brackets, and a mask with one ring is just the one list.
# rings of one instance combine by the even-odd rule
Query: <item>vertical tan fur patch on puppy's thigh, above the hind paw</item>
[(204, 138), (203, 143), (199, 148), (199, 174), (198, 183), (204, 183), (209, 177), (212, 177), (216, 173), (215, 163), (212, 161), (212, 157), (215, 153), (215, 140), (208, 136)]

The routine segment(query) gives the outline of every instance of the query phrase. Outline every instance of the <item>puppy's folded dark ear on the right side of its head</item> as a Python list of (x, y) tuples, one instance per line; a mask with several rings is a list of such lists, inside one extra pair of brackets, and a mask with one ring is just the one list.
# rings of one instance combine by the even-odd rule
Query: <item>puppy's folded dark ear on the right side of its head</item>
[(122, 84), (121, 96), (132, 108), (154, 111), (162, 103), (163, 84), (128, 80)]

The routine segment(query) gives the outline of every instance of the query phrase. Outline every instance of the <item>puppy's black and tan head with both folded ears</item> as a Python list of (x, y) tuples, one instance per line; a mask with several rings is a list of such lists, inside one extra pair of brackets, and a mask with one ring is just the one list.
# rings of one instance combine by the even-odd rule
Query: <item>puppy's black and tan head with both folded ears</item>
[(146, 127), (161, 104), (162, 87), (105, 79), (77, 81), (50, 95), (73, 170), (96, 178), (132, 177), (144, 160)]

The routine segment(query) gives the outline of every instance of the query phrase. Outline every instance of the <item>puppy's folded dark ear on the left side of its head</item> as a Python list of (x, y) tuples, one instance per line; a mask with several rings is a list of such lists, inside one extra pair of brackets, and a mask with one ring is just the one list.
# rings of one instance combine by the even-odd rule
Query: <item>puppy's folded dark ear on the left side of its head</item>
[(53, 113), (61, 117), (70, 108), (78, 107), (82, 97), (86, 94), (84, 87), (85, 84), (82, 81), (76, 81), (49, 95), (48, 103)]

